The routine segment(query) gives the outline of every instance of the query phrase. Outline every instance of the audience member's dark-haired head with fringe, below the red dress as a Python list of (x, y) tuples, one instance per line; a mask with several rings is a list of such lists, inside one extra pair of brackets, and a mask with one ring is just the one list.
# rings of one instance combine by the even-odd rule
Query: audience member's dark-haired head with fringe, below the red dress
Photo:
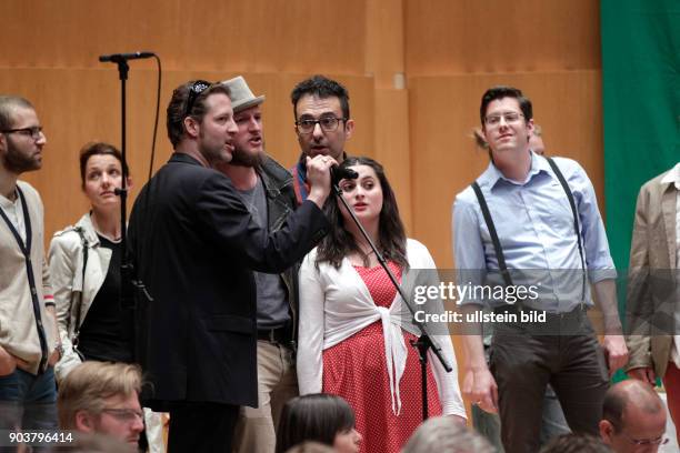
[(277, 430), (277, 453), (306, 441), (332, 446), (338, 453), (357, 453), (361, 434), (354, 429), (354, 413), (347, 401), (316, 393), (286, 403)]

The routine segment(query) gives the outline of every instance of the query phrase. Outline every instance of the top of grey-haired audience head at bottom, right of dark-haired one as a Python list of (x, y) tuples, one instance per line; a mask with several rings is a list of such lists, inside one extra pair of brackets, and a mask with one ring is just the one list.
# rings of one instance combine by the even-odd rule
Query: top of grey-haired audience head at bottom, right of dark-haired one
[(428, 419), (411, 435), (401, 453), (493, 453), (496, 449), (481, 435), (451, 417)]

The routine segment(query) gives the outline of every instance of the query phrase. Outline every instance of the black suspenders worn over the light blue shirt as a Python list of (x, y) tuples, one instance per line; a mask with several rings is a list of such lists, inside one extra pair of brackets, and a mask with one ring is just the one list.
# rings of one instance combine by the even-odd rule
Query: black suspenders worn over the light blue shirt
[[(582, 283), (581, 303), (583, 303), (586, 299), (586, 280), (587, 280), (586, 279), (586, 260), (583, 258), (583, 244), (582, 244), (582, 238), (581, 238), (581, 229), (579, 226), (579, 214), (577, 211), (576, 201), (573, 200), (573, 193), (571, 193), (571, 189), (569, 189), (569, 184), (567, 183), (564, 175), (562, 175), (562, 172), (560, 171), (559, 167), (554, 163), (552, 158), (546, 158), (546, 159), (548, 160), (550, 168), (552, 169), (558, 180), (560, 181), (560, 185), (562, 185), (564, 193), (567, 193), (567, 198), (569, 199), (569, 205), (571, 207), (571, 213), (573, 215), (573, 230), (577, 235), (577, 243), (579, 244), (579, 255), (581, 256), (581, 269), (583, 272), (583, 275), (581, 279), (581, 283)], [(484, 199), (481, 188), (479, 187), (477, 181), (474, 181), (471, 184), (471, 187), (472, 187), (472, 190), (474, 191), (474, 194), (477, 195), (477, 201), (479, 202), (479, 207), (482, 211), (484, 222), (487, 223), (487, 228), (489, 229), (489, 234), (491, 235), (491, 242), (493, 243), (493, 250), (496, 252), (496, 259), (498, 261), (498, 268), (503, 278), (503, 282), (508, 286), (512, 286), (512, 278), (510, 276), (510, 272), (508, 271), (508, 265), (506, 264), (506, 255), (503, 254), (503, 248), (501, 246), (500, 240), (498, 239), (496, 225), (493, 224), (493, 219), (491, 218), (491, 212), (489, 211), (489, 205), (487, 204), (487, 200)]]

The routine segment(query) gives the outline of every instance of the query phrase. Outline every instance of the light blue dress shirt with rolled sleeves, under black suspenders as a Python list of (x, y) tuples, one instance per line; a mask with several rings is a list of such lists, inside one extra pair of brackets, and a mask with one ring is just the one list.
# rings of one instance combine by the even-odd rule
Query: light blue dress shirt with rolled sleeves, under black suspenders
[[(602, 218), (586, 171), (573, 160), (554, 158), (574, 198), (579, 213), (583, 259), (590, 282), (616, 279)], [(531, 153), (526, 181), (512, 181), (489, 163), (478, 179), (503, 249), (514, 285), (534, 285), (538, 298), (524, 300), (530, 308), (566, 312), (584, 302), (592, 305), (590, 290), (583, 293), (583, 265), (573, 214), (567, 193), (546, 158)], [(504, 285), (491, 235), (470, 187), (453, 202), (453, 251), (459, 285)], [(491, 273), (493, 275), (491, 275)], [(502, 301), (468, 298), (462, 303)]]

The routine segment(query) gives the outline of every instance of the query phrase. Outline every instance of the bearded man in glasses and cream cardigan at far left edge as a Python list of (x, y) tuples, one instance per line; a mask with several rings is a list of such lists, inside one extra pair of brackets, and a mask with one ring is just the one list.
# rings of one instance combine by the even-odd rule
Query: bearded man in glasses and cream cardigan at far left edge
[(33, 105), (0, 95), (0, 430), (57, 426), (60, 358), (43, 250), (43, 207), (19, 177), (42, 167), (47, 139)]

